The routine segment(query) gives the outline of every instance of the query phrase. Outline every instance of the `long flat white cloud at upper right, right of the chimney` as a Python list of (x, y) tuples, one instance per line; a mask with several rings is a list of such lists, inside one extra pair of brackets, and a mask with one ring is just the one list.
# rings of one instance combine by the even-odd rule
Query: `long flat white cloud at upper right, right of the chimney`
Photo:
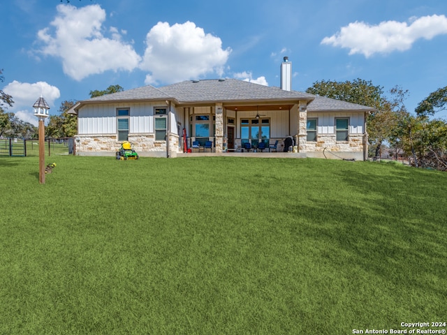
[(375, 53), (409, 50), (419, 38), (430, 40), (447, 34), (445, 15), (411, 17), (409, 22), (386, 21), (375, 26), (354, 22), (337, 34), (323, 38), (321, 44), (344, 47), (350, 49), (349, 54), (364, 54), (368, 58)]

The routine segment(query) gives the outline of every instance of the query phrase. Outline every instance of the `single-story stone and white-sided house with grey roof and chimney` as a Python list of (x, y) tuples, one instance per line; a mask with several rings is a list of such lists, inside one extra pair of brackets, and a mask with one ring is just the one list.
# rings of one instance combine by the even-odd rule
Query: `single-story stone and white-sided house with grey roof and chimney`
[(140, 156), (162, 157), (182, 156), (194, 141), (202, 147), (212, 142), (215, 154), (243, 151), (245, 143), (256, 149), (264, 142), (268, 148), (278, 141), (277, 151), (293, 149), (291, 156), (337, 151), (339, 157), (365, 160), (372, 110), (291, 90), (291, 62), (284, 57), (281, 87), (186, 80), (79, 101), (69, 112), (78, 115), (80, 155), (115, 155), (126, 140)]

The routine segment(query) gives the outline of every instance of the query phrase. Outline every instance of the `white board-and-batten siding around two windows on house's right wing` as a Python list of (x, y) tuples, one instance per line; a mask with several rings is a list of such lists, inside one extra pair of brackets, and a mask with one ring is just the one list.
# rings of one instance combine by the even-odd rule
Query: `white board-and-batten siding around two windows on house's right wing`
[(364, 117), (364, 112), (307, 112), (307, 119), (318, 119), (317, 133), (321, 135), (335, 133), (335, 119), (337, 118), (349, 118), (349, 133), (362, 134)]

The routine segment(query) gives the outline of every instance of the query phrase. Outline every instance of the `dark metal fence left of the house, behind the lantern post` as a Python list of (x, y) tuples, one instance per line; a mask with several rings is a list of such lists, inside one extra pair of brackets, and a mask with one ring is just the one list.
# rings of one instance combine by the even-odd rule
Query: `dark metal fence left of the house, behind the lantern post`
[[(74, 137), (45, 139), (45, 156), (74, 154), (76, 154)], [(38, 140), (2, 138), (0, 156), (39, 156)]]

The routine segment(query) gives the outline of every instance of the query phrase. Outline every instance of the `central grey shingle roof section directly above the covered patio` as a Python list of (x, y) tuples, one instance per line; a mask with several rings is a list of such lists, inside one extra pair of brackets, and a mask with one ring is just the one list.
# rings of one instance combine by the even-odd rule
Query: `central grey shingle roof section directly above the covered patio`
[(265, 100), (312, 100), (312, 94), (284, 91), (279, 87), (268, 87), (236, 79), (186, 80), (160, 87), (181, 103), (207, 101), (265, 101)]

